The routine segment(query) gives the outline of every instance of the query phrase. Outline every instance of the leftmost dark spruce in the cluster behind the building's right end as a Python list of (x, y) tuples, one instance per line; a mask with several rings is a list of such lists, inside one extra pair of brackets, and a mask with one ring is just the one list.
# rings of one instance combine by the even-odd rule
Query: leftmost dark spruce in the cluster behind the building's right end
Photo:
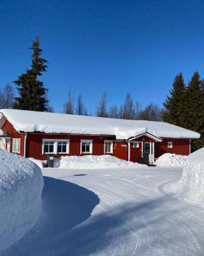
[(164, 102), (163, 120), (170, 124), (179, 125), (184, 127), (185, 114), (184, 109), (186, 106), (186, 86), (184, 77), (180, 72), (173, 81), (173, 89), (170, 90), (170, 96), (167, 96)]

